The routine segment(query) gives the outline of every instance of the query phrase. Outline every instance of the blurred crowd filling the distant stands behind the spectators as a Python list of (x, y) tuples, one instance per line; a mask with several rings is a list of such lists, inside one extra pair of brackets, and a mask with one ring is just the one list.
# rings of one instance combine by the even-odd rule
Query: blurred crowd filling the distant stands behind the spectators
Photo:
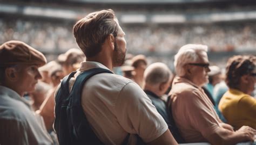
[[(72, 23), (0, 19), (0, 42), (22, 40), (43, 52), (64, 52), (77, 47)], [(207, 44), (212, 52), (254, 50), (255, 23), (204, 25), (125, 25), (130, 53), (177, 52), (183, 44)]]

